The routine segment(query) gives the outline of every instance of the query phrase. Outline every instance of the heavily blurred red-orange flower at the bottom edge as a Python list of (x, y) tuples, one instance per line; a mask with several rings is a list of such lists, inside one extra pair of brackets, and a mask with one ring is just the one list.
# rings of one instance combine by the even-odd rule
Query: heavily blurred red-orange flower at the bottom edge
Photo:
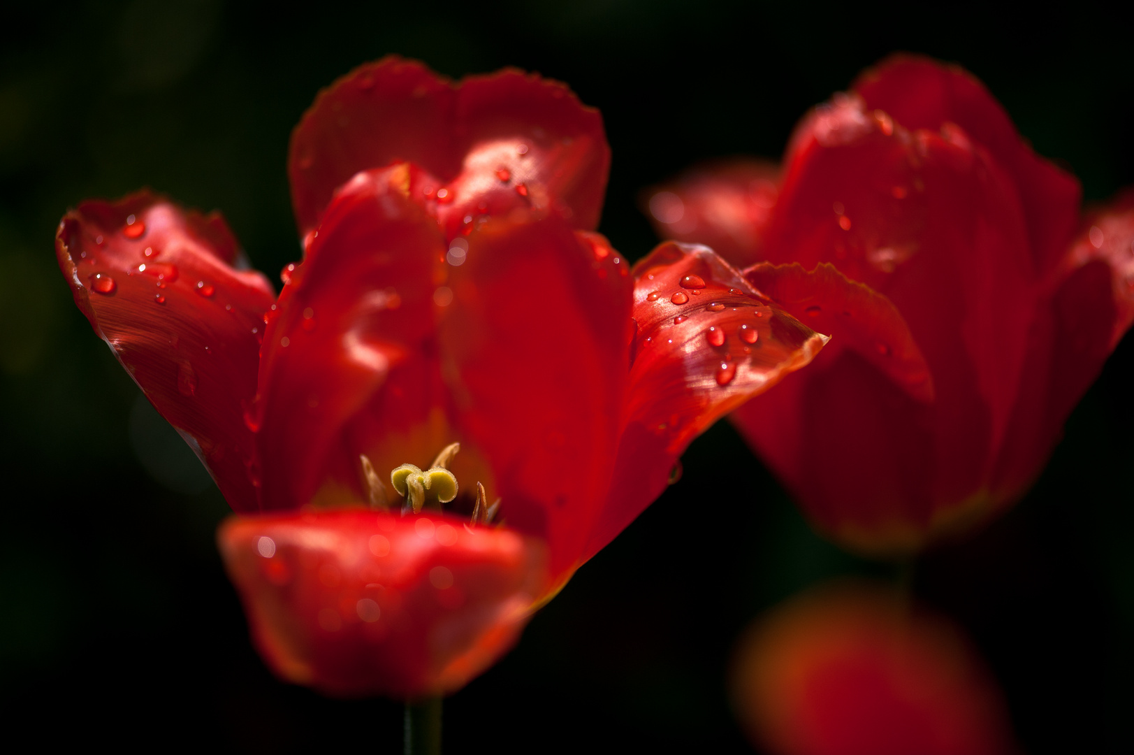
[(739, 643), (735, 710), (775, 755), (1006, 755), (996, 682), (959, 629), (897, 595), (827, 586)]

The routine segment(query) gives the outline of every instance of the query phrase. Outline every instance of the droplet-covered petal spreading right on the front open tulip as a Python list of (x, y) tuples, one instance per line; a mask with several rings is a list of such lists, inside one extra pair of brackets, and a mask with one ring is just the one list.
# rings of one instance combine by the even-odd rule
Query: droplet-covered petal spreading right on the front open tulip
[(587, 559), (661, 494), (693, 438), (827, 342), (705, 246), (663, 243), (634, 266), (634, 277), (623, 439)]

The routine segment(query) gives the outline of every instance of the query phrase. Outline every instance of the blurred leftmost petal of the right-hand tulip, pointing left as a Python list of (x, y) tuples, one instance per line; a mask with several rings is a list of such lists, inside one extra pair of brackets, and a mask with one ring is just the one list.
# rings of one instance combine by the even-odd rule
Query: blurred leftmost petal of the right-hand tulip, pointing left
[(763, 259), (763, 236), (779, 195), (779, 167), (735, 159), (697, 166), (645, 194), (661, 238), (710, 246), (736, 267)]

